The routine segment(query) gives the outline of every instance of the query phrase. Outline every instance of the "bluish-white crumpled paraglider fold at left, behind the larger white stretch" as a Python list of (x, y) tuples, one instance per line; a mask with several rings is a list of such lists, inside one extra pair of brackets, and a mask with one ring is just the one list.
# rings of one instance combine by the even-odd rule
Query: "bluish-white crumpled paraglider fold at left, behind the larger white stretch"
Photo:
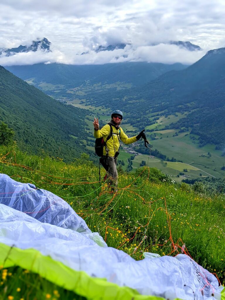
[(91, 232), (85, 221), (66, 201), (33, 184), (17, 182), (5, 174), (0, 174), (0, 203), (44, 223), (79, 232)]

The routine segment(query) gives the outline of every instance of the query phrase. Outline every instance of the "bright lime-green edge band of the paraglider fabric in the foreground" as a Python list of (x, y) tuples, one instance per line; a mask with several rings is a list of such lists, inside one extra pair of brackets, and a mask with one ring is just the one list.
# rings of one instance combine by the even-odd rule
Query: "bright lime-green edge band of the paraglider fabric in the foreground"
[(75, 271), (38, 250), (22, 250), (0, 243), (0, 265), (19, 266), (64, 287), (78, 295), (95, 300), (162, 300), (156, 296), (140, 295), (136, 290), (118, 286), (104, 278), (91, 277), (84, 271)]

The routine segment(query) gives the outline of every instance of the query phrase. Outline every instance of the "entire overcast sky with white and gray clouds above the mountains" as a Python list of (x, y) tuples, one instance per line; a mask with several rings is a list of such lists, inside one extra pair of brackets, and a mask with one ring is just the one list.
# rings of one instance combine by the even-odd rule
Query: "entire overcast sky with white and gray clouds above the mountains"
[[(0, 64), (192, 64), (209, 49), (225, 47), (224, 16), (224, 0), (1, 0), (0, 48), (30, 45), (45, 37), (52, 52), (1, 55)], [(165, 44), (168, 41), (190, 41), (202, 51), (190, 52)], [(94, 51), (117, 43), (129, 45)]]

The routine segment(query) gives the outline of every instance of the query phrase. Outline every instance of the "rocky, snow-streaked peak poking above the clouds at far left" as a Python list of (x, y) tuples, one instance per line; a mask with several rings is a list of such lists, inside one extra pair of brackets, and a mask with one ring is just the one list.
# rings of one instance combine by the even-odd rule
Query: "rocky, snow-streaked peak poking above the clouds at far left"
[(42, 50), (45, 50), (45, 51), (51, 51), (50, 50), (50, 45), (51, 45), (51, 43), (48, 41), (48, 39), (43, 38), (42, 40), (38, 39), (37, 41), (32, 41), (32, 44), (30, 46), (20, 45), (17, 48), (11, 48), (11, 49), (1, 48), (0, 49), (0, 55), (3, 52), (5, 52), (7, 56), (10, 56), (10, 55), (14, 55), (15, 53), (19, 53), (19, 52), (29, 52), (29, 51), (35, 52), (38, 49), (42, 49)]

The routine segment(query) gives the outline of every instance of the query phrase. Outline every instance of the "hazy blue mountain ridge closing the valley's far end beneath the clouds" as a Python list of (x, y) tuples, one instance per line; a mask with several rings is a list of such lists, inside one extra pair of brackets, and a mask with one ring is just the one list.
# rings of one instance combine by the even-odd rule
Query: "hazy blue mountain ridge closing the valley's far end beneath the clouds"
[(65, 85), (73, 88), (82, 84), (111, 84), (126, 82), (141, 85), (170, 70), (182, 70), (182, 64), (161, 64), (147, 62), (125, 62), (102, 65), (34, 64), (10, 66), (7, 70), (22, 78), (33, 79), (35, 86), (40, 82)]

